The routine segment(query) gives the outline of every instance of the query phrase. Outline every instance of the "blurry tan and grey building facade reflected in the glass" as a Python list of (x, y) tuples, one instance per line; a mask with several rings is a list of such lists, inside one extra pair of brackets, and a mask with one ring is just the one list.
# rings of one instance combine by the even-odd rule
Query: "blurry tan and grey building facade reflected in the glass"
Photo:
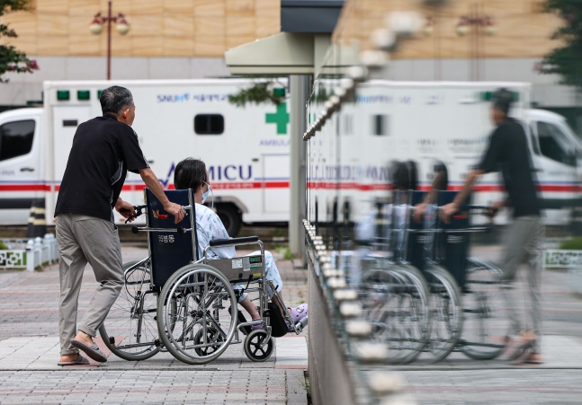
[[(542, 58), (561, 46), (551, 35), (563, 20), (542, 0), (348, 0), (332, 40), (372, 49), (373, 32), (395, 11), (417, 11), (425, 27), (390, 52), (375, 77), (405, 81), (515, 81), (533, 84), (534, 106), (554, 110), (582, 133), (579, 96), (559, 75), (540, 73)], [(459, 29), (464, 25), (464, 28)]]

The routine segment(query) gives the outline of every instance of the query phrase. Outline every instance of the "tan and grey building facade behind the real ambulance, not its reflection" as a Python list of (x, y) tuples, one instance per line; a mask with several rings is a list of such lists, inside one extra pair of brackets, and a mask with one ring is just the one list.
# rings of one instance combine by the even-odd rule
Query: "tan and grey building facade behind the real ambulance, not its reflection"
[[(36, 0), (8, 13), (18, 38), (2, 39), (37, 59), (32, 75), (6, 75), (0, 106), (40, 100), (44, 80), (106, 78), (106, 27), (89, 31), (106, 0)], [(112, 79), (178, 79), (228, 75), (224, 52), (281, 31), (280, 0), (113, 0), (130, 32), (112, 29)], [(10, 40), (10, 41), (8, 41)]]

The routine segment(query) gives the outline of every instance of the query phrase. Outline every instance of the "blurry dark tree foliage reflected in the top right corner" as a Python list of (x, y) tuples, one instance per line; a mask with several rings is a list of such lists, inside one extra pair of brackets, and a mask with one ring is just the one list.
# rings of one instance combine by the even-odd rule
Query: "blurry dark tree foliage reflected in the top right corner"
[(543, 58), (541, 72), (561, 75), (561, 84), (582, 90), (582, 1), (546, 0), (544, 6), (546, 12), (557, 13), (564, 20), (551, 36), (552, 40), (562, 40), (564, 46)]

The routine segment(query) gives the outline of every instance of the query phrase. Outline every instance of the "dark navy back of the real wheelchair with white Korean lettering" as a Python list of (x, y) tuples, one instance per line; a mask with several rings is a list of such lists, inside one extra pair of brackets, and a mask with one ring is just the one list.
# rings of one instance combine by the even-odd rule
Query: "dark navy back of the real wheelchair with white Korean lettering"
[[(148, 205), (148, 227), (166, 228), (168, 232), (149, 232), (148, 247), (152, 264), (152, 284), (156, 287), (163, 287), (166, 281), (177, 269), (183, 268), (199, 257), (197, 254), (196, 233), (185, 232), (179, 234), (176, 232), (178, 227), (184, 229), (195, 227), (196, 212), (193, 204), (193, 190), (179, 189), (167, 190), (167, 198), (181, 206), (190, 206), (192, 209), (187, 212), (184, 219), (179, 224), (174, 224), (174, 216), (167, 216), (164, 207), (156, 196), (149, 190), (144, 189), (146, 204)], [(160, 217), (162, 216), (162, 217)], [(164, 219), (163, 219), (164, 218)], [(194, 239), (194, 241), (193, 241)]]

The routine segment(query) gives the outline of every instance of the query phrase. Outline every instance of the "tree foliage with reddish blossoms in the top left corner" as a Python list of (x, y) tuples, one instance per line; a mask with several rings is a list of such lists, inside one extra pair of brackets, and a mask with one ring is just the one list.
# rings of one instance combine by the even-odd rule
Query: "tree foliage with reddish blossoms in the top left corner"
[[(6, 13), (30, 10), (30, 3), (31, 0), (0, 0), (0, 17)], [(16, 38), (18, 35), (8, 25), (0, 23), (0, 37)], [(0, 45), (0, 83), (8, 82), (2, 77), (6, 72), (32, 73), (38, 68), (36, 60), (29, 59), (12, 45)]]

